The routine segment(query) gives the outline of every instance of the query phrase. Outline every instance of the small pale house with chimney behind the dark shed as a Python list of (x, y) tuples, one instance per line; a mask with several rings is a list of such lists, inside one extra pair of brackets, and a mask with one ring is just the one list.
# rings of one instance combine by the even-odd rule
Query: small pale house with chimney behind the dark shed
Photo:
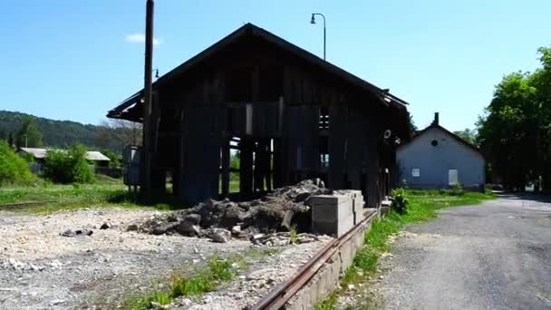
[(478, 148), (441, 127), (439, 113), (429, 127), (397, 150), (400, 181), (411, 188), (440, 189), (454, 184), (481, 189), (485, 160)]

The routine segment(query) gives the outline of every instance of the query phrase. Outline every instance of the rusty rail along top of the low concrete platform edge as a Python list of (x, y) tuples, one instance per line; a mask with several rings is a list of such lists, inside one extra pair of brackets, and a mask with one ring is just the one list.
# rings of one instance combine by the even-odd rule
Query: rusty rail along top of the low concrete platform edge
[(285, 303), (291, 299), (311, 278), (315, 273), (324, 266), (324, 263), (329, 260), (333, 254), (343, 246), (353, 235), (360, 230), (363, 225), (377, 216), (377, 212), (373, 212), (352, 229), (350, 229), (343, 236), (333, 239), (327, 245), (325, 245), (314, 257), (310, 258), (303, 266), (298, 269), (295, 276), (285, 281), (279, 286), (276, 286), (268, 295), (260, 300), (251, 309), (253, 310), (265, 310), (265, 309), (279, 309)]

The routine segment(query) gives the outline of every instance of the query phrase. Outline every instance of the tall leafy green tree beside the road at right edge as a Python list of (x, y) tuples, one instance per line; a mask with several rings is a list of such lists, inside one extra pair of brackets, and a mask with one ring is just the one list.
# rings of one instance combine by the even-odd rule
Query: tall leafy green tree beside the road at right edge
[(551, 51), (539, 53), (542, 67), (506, 75), (478, 120), (477, 141), (507, 189), (551, 189)]

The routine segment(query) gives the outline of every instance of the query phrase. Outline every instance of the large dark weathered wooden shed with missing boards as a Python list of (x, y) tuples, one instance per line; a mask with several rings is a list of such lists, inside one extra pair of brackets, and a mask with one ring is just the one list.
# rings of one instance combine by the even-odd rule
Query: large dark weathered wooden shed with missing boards
[[(143, 91), (108, 117), (143, 120)], [(239, 194), (319, 177), (362, 189), (377, 207), (408, 140), (406, 102), (254, 24), (245, 24), (153, 84), (152, 190), (197, 202), (229, 194), (230, 150)]]

